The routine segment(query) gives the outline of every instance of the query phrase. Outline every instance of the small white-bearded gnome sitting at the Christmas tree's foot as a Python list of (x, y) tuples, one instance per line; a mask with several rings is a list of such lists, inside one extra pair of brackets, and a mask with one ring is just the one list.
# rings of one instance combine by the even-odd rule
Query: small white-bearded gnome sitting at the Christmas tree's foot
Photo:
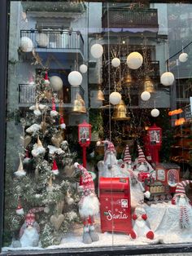
[(39, 243), (39, 224), (35, 221), (35, 214), (28, 213), (25, 217), (24, 224), (20, 228), (21, 247), (38, 246)]

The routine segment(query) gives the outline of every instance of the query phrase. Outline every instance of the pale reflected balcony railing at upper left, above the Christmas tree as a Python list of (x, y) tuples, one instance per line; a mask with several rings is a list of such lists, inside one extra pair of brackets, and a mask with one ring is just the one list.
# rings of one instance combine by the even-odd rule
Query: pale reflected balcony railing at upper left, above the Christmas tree
[(84, 40), (79, 31), (37, 29), (20, 30), (20, 37), (28, 37), (35, 48), (80, 50), (84, 52)]

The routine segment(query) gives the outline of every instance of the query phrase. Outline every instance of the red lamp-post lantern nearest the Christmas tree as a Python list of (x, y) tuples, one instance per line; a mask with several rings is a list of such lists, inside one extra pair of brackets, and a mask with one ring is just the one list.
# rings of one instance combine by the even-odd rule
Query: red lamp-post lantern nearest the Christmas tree
[(78, 125), (78, 140), (83, 148), (83, 166), (86, 168), (86, 148), (89, 147), (91, 138), (91, 125), (85, 120)]

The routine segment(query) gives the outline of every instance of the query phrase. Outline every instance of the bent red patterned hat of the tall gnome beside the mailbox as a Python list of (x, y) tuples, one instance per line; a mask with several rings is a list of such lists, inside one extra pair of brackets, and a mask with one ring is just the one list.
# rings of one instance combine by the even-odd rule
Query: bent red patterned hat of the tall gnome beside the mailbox
[(89, 196), (95, 194), (94, 192), (94, 180), (92, 175), (78, 163), (75, 163), (74, 166), (81, 170), (81, 186), (83, 187), (84, 196)]

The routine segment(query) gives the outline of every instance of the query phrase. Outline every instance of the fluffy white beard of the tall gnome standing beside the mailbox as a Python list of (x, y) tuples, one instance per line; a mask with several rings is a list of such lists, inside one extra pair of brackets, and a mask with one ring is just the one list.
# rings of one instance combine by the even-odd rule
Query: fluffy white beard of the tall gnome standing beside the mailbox
[(93, 216), (99, 212), (98, 197), (94, 194), (81, 198), (79, 203), (79, 213), (82, 218)]

